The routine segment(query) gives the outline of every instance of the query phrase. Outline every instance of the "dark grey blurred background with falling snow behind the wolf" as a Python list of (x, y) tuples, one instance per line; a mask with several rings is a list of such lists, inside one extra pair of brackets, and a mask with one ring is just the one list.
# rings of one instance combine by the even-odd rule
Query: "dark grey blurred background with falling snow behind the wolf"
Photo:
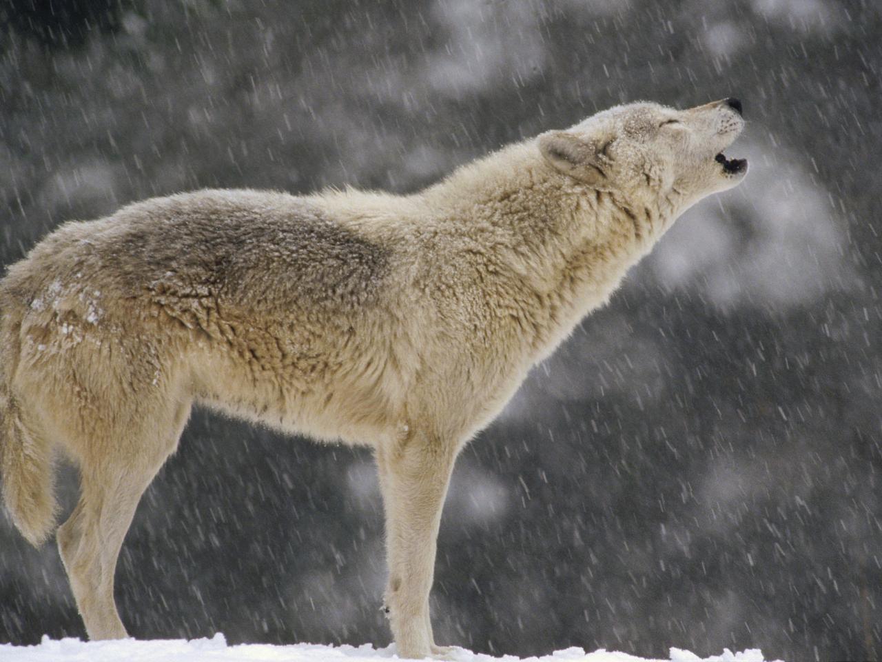
[[(737, 96), (744, 184), (461, 455), (436, 638), (879, 658), (880, 80), (869, 0), (0, 0), (0, 262), (150, 196), (413, 192), (620, 102)], [(388, 643), (370, 452), (197, 410), (116, 584), (138, 638)], [(0, 519), (0, 642), (43, 634), (85, 636), (56, 548)]]

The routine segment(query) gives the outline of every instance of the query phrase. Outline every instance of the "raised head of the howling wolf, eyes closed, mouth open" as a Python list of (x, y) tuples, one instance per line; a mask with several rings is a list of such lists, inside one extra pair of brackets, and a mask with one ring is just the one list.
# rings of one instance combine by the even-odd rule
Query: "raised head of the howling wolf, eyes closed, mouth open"
[(639, 102), (605, 110), (566, 131), (543, 133), (538, 144), (546, 161), (565, 175), (676, 215), (744, 179), (747, 161), (722, 154), (742, 129), (737, 99), (687, 110)]

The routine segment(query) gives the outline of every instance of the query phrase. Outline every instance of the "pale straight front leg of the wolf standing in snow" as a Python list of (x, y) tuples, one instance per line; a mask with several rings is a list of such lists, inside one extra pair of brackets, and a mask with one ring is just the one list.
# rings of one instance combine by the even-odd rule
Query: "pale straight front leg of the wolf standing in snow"
[(432, 638), (429, 592), (441, 508), (457, 447), (437, 435), (407, 433), (377, 451), (386, 516), (386, 613), (402, 658), (444, 653)]

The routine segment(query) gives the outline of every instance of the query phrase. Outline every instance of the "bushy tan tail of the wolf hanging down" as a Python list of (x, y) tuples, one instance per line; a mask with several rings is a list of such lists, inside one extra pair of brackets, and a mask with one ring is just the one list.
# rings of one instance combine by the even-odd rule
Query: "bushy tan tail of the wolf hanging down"
[(12, 523), (39, 546), (55, 528), (53, 448), (28, 429), (11, 393), (9, 372), (18, 364), (19, 342), (9, 322), (0, 320), (0, 487)]

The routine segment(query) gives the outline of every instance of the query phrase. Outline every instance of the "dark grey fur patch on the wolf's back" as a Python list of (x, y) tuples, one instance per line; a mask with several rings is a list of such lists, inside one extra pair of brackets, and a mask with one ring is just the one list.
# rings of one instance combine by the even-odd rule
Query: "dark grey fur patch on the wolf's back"
[(109, 223), (123, 229), (96, 240), (132, 290), (192, 290), (244, 309), (365, 305), (388, 263), (388, 250), (285, 193), (176, 195), (125, 207)]

